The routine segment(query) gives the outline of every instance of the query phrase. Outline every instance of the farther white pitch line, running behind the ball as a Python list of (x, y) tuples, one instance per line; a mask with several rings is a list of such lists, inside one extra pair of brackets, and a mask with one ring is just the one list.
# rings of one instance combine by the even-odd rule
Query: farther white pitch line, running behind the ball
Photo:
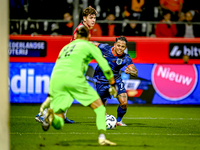
[[(35, 118), (35, 116), (30, 117), (30, 116), (10, 116), (11, 119), (15, 119), (15, 118), (27, 118), (27, 119), (33, 119)], [(95, 117), (73, 117), (73, 118), (89, 118), (89, 119), (93, 119)], [(152, 118), (152, 117), (124, 117), (124, 119), (135, 119), (135, 120), (139, 120), (139, 119), (145, 119), (145, 120), (156, 120), (156, 119), (160, 119), (160, 120), (200, 120), (200, 118), (162, 118), (162, 117), (158, 117), (158, 118)]]

